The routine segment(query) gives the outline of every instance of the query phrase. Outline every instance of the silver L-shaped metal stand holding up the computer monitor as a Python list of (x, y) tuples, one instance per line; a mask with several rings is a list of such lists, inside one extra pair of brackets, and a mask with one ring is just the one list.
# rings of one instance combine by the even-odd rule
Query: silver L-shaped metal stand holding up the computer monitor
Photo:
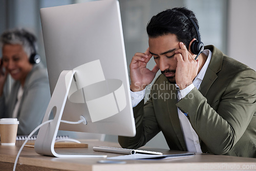
[(56, 114), (52, 122), (40, 127), (35, 140), (35, 152), (54, 157), (106, 157), (105, 155), (57, 154), (54, 151), (55, 139), (74, 74), (74, 70), (64, 70), (60, 73), (42, 123), (49, 120), (51, 112), (56, 112)]

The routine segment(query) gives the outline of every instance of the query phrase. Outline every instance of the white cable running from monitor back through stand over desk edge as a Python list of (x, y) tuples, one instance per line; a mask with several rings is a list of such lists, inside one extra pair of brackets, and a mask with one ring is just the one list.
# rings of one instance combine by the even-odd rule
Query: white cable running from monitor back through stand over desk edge
[[(20, 153), (22, 152), (23, 147), (26, 145), (26, 143), (27, 143), (28, 140), (30, 139), (30, 137), (31, 137), (41, 126), (43, 126), (43, 125), (45, 125), (45, 124), (47, 124), (47, 123), (50, 123), (50, 122), (52, 122), (52, 121), (53, 121), (53, 120), (51, 119), (51, 120), (48, 120), (48, 121), (45, 121), (45, 122), (41, 123), (40, 125), (38, 125), (38, 126), (29, 134), (28, 138), (24, 141), (24, 143), (22, 144), (22, 146), (19, 148), (18, 154), (17, 154), (16, 159), (15, 159), (15, 162), (14, 162), (13, 171), (15, 171), (15, 168), (16, 168), (16, 165), (17, 165), (17, 162), (18, 162), (18, 157), (19, 157)], [(81, 119), (81, 120), (79, 120), (79, 121), (77, 121), (77, 122), (71, 122), (71, 121), (67, 121), (67, 120), (60, 120), (60, 122), (70, 123), (70, 124), (78, 124), (78, 123), (81, 123), (81, 122), (83, 122), (83, 121), (84, 121), (83, 119)]]

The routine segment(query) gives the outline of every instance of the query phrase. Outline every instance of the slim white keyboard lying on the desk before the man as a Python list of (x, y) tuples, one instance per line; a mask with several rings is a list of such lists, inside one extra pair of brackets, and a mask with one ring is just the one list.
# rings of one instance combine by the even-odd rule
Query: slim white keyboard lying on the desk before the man
[(160, 152), (146, 151), (142, 149), (129, 149), (129, 148), (117, 148), (117, 147), (108, 147), (108, 146), (94, 146), (93, 151), (95, 152), (106, 152), (106, 153), (117, 153), (124, 155), (131, 154), (148, 154), (148, 155), (162, 155)]

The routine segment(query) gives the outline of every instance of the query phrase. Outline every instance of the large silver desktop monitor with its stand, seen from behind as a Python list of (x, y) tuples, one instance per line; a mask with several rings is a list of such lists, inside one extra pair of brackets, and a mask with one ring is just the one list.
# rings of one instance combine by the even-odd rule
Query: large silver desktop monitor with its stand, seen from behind
[(54, 152), (58, 129), (135, 136), (118, 1), (43, 8), (40, 17), (52, 95), (43, 122), (55, 116), (40, 128), (35, 151), (69, 157)]

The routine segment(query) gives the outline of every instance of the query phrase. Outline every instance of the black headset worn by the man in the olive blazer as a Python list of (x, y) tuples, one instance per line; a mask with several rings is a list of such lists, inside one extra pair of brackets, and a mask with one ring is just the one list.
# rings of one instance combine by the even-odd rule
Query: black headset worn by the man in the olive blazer
[[(186, 16), (186, 15), (185, 15)], [(200, 38), (200, 34), (199, 34), (199, 30), (197, 28), (197, 25), (196, 23), (194, 22), (193, 19), (191, 19), (189, 16), (186, 16), (190, 22), (193, 24), (194, 28), (196, 29), (196, 32), (197, 32), (197, 38), (198, 40), (194, 40), (190, 46), (190, 50), (192, 53), (194, 53), (195, 55), (197, 55), (195, 57), (195, 60), (197, 60), (198, 56), (200, 55), (200, 53), (203, 52), (204, 50), (204, 44), (203, 42), (201, 41), (201, 38)]]

